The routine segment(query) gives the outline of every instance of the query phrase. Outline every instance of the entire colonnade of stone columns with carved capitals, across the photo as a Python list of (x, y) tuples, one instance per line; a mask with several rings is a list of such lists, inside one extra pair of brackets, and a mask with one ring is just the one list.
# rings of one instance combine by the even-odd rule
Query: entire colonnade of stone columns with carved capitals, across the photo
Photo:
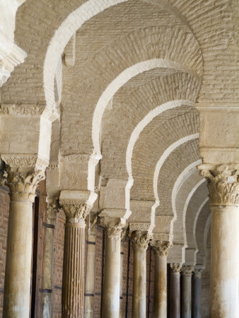
[[(8, 164), (7, 160), (5, 160)], [(11, 163), (11, 164), (10, 164)], [(33, 233), (33, 201), (37, 184), (45, 178), (41, 165), (19, 171), (18, 161), (9, 160), (7, 165), (10, 189), (10, 211), (8, 223), (8, 247), (6, 254), (6, 276), (4, 285), (4, 317), (28, 317), (30, 303), (30, 271)], [(209, 181), (211, 203), (211, 317), (238, 317), (238, 170), (216, 167), (213, 171), (202, 167), (202, 175)], [(62, 191), (59, 204), (66, 214), (64, 239), (64, 266), (62, 317), (83, 317), (84, 312), (84, 245), (85, 218), (91, 210), (88, 191)], [(45, 258), (45, 290), (52, 290), (54, 217), (57, 206), (49, 200), (47, 245)], [(50, 220), (51, 219), (51, 220)], [(124, 218), (104, 218), (105, 225), (105, 275), (103, 289), (103, 317), (119, 317), (120, 298), (120, 237), (125, 227)], [(146, 249), (153, 239), (147, 231), (135, 230), (131, 233), (134, 249), (134, 295), (133, 317), (146, 317)], [(91, 240), (94, 240), (91, 235)], [(166, 263), (168, 242), (156, 241), (152, 245), (156, 251), (156, 302), (153, 317), (165, 317)], [(233, 244), (233, 249), (228, 246)], [(93, 266), (93, 250), (89, 251), (89, 264)], [(235, 264), (237, 266), (235, 266)], [(194, 275), (194, 292), (191, 291), (192, 267), (171, 264), (170, 274), (170, 317), (191, 317), (191, 301), (194, 295), (194, 317), (200, 317), (200, 275)], [(182, 308), (180, 309), (180, 272), (182, 272)], [(93, 293), (92, 279), (86, 282), (89, 293)], [(234, 279), (235, 278), (235, 279)], [(216, 290), (216, 292), (215, 292)], [(229, 300), (229, 301), (228, 301)], [(44, 298), (43, 310), (50, 317), (50, 297)], [(92, 316), (92, 299), (86, 302), (85, 316)], [(47, 317), (47, 316), (45, 316)]]

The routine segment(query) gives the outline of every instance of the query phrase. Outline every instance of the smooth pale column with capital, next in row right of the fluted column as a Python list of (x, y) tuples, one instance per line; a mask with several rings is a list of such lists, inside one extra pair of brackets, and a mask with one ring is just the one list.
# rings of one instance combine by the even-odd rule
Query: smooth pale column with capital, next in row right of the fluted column
[(103, 218), (105, 225), (105, 266), (103, 281), (103, 309), (105, 318), (119, 318), (120, 237), (125, 219)]

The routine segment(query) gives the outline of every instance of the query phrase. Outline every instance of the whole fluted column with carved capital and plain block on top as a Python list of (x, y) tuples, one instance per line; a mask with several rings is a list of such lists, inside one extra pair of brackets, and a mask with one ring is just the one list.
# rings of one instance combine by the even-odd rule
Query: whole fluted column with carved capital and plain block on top
[(85, 218), (92, 208), (88, 191), (62, 191), (66, 214), (62, 276), (62, 317), (83, 317)]

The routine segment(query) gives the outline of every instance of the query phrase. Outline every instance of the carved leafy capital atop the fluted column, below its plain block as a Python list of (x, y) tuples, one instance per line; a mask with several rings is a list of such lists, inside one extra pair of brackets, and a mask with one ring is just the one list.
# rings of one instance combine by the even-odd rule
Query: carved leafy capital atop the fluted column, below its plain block
[(92, 206), (84, 200), (60, 199), (59, 204), (66, 214), (66, 223), (84, 223)]

